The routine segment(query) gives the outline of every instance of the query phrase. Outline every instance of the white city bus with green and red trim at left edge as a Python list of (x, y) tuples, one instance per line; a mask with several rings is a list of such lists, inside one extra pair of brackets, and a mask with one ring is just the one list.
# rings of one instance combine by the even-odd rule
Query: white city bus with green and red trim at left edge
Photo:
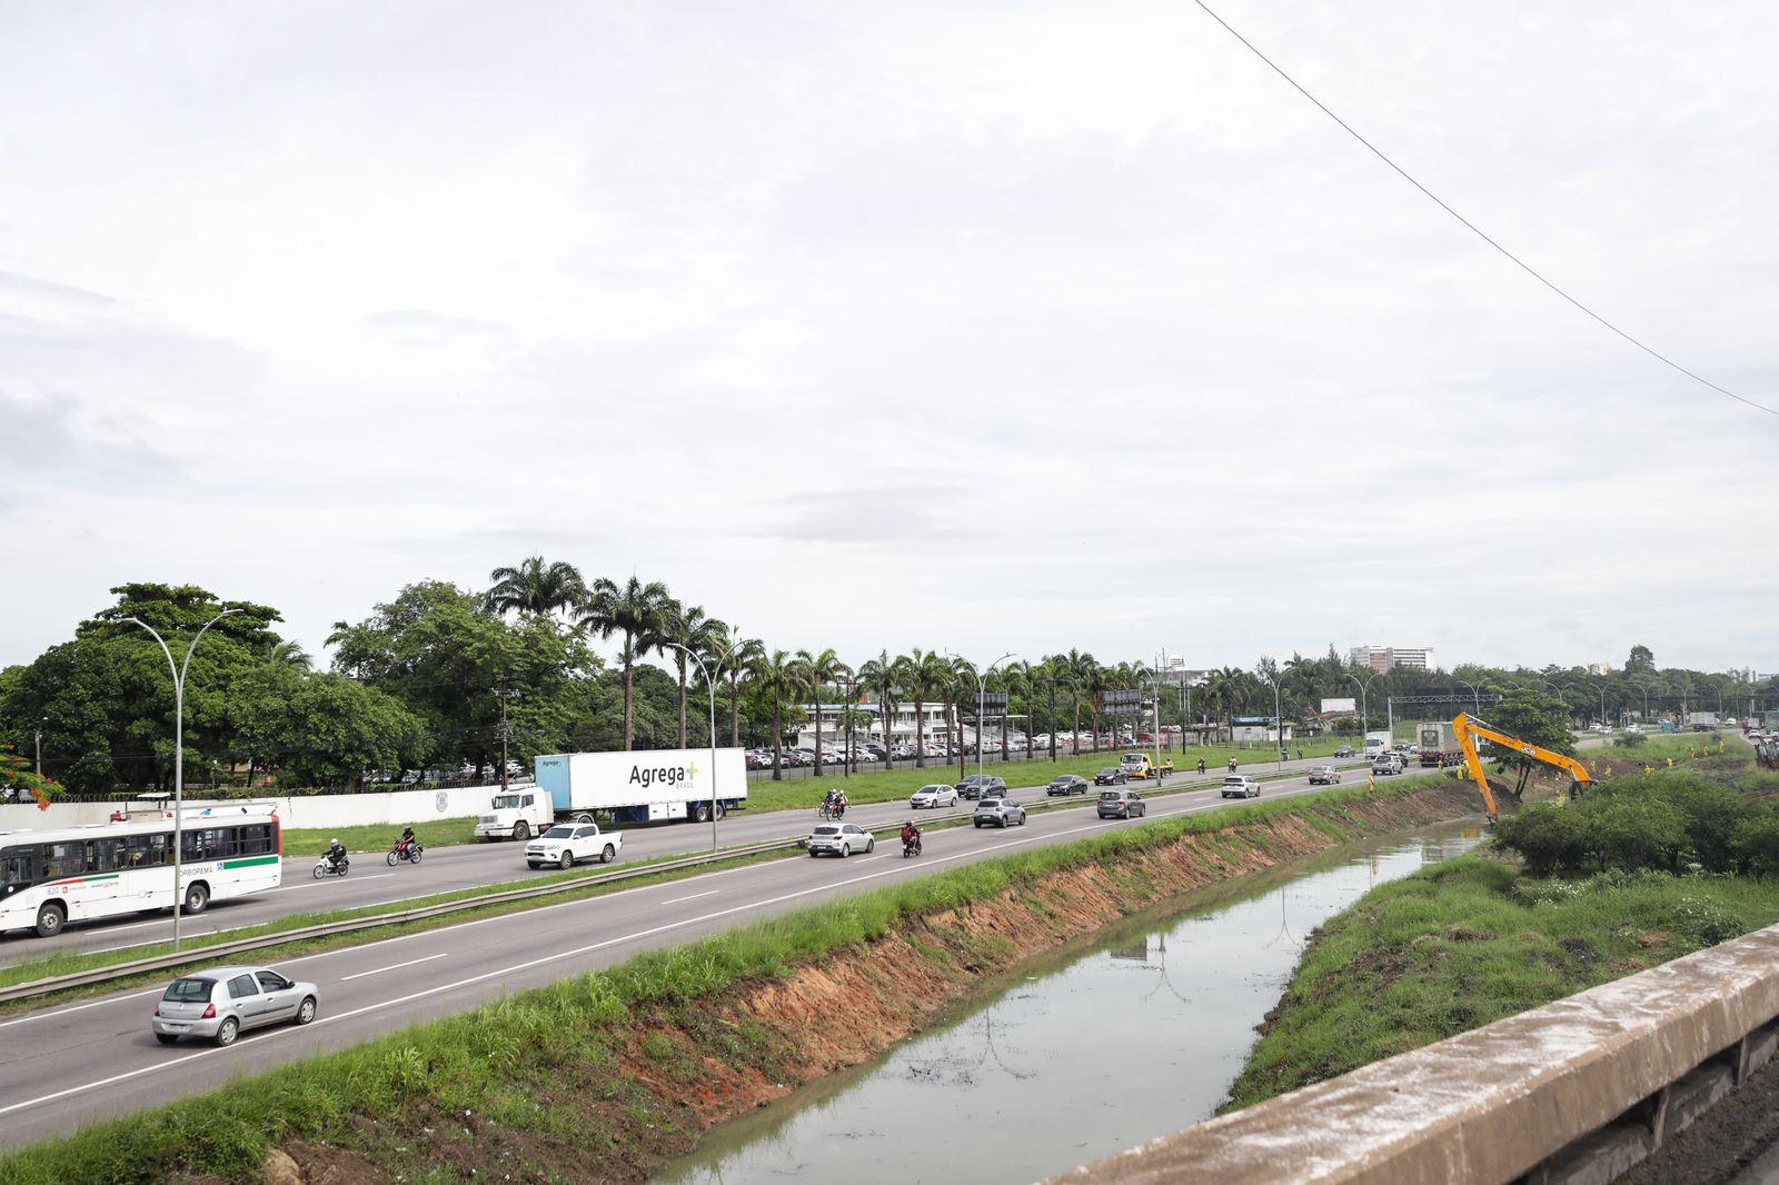
[[(233, 810), (233, 808), (221, 808)], [(263, 806), (187, 811), (185, 913), (278, 888), (285, 838)], [(0, 934), (62, 932), (69, 922), (173, 907), (173, 818), (0, 831)]]

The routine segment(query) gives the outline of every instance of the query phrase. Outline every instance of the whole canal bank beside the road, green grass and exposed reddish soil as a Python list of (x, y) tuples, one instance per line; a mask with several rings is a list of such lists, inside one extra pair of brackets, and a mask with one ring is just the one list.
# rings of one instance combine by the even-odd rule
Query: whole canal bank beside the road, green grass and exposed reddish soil
[[(281, 1149), (342, 1180), (640, 1180), (715, 1121), (918, 1030), (1041, 938), (1469, 808), (1453, 786), (1416, 790), (1165, 818), (802, 909), (93, 1125), (0, 1158), (0, 1178), (253, 1180)], [(873, 959), (873, 945), (888, 950)], [(834, 1043), (824, 1018), (836, 1009), (849, 1039), (829, 1053), (809, 1043)]]

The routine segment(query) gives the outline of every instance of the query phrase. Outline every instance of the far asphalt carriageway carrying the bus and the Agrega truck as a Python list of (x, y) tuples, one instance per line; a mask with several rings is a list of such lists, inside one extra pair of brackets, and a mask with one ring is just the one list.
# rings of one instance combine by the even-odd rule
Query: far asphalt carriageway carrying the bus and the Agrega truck
[[(1324, 763), (1334, 763), (1343, 769), (1363, 765), (1363, 762), (1354, 760), (1311, 758), (1304, 762), (1286, 762), (1283, 769), (1308, 769), (1311, 765)], [(1254, 762), (1244, 763), (1242, 772), (1267, 776), (1277, 769), (1281, 767), (1274, 762)], [(1226, 770), (1222, 769), (1210, 770), (1204, 778), (1199, 778), (1197, 774), (1178, 774), (1162, 783), (1162, 788), (1172, 790), (1176, 786), (1220, 783), (1224, 772)], [(936, 781), (943, 781), (950, 776), (952, 774), (948, 770), (934, 770)], [(1042, 776), (1044, 781), (1051, 778), (1050, 765), (1046, 762), (1037, 762), (1032, 769), (1005, 769), (1002, 776), (1009, 779), (1009, 785), (1021, 776)], [(1140, 783), (1133, 783), (1133, 788), (1140, 788)], [(1014, 794), (1016, 797), (1025, 797), (1028, 801), (1042, 797), (1042, 785), (1018, 786)], [(948, 810), (950, 808), (939, 813), (948, 813)], [(847, 822), (857, 822), (863, 827), (881, 827), (897, 824), (911, 813), (913, 811), (909, 811), (907, 801), (902, 799), (895, 802), (856, 806), (847, 811)], [(817, 817), (813, 810), (765, 811), (758, 815), (744, 811), (717, 824), (717, 840), (722, 847), (783, 840), (797, 834), (808, 834), (815, 822)], [(393, 840), (398, 831), (398, 827), (390, 827), (390, 838)], [(624, 833), (624, 850), (619, 863), (633, 863), (653, 856), (685, 856), (710, 850), (710, 824), (653, 824), (642, 827), (623, 827), (621, 831)], [(386, 849), (375, 852), (352, 852), (352, 870), (343, 879), (327, 877), (326, 881), (317, 881), (310, 874), (315, 867), (315, 858), (286, 859), (283, 884), (279, 888), (237, 900), (213, 902), (203, 915), (185, 918), (180, 927), (181, 934), (192, 938), (260, 925), (263, 922), (274, 922), (278, 918), (302, 913), (356, 909), (359, 906), (391, 906), (416, 897), (429, 897), (432, 893), (448, 893), (454, 890), (491, 884), (511, 884), (527, 877), (557, 872), (553, 867), (541, 872), (527, 868), (523, 845), (512, 842), (434, 847), (427, 850), (425, 858), (418, 865), (397, 865), (395, 868), (388, 867), (384, 852)], [(68, 929), (55, 938), (37, 938), (30, 931), (11, 931), (0, 938), (0, 966), (43, 959), (62, 952), (128, 950), (132, 947), (171, 941), (171, 913), (149, 920), (132, 913), (101, 922), (69, 923)]]

